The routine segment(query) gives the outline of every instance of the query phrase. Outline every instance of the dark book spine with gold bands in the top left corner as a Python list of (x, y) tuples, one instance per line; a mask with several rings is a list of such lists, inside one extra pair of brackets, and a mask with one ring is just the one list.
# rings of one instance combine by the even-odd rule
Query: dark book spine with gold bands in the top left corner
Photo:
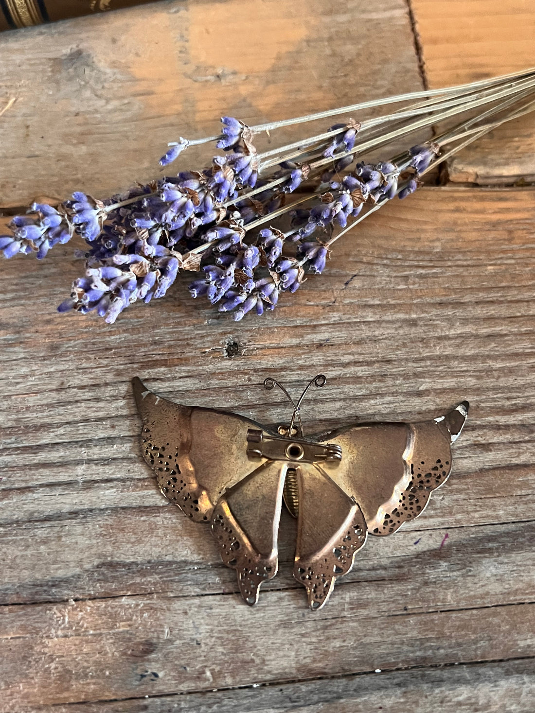
[(143, 5), (152, 0), (0, 0), (0, 31)]

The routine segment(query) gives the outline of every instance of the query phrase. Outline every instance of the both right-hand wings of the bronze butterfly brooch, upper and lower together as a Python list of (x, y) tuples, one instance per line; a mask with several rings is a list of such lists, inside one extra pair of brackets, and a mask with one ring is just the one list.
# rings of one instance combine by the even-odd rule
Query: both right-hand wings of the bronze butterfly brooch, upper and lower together
[(294, 577), (319, 609), (352, 568), (366, 533), (389, 535), (417, 517), (449, 476), (451, 444), (469, 404), (417, 424), (362, 424), (313, 436), (342, 448), (342, 461), (300, 464)]

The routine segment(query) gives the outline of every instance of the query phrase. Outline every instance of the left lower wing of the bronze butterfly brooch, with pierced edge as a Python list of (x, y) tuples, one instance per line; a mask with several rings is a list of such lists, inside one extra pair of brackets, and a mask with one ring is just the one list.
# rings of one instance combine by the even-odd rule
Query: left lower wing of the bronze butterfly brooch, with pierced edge
[(219, 499), (212, 532), (225, 565), (236, 570), (238, 587), (250, 605), (260, 585), (277, 573), (279, 528), (286, 467), (267, 461)]

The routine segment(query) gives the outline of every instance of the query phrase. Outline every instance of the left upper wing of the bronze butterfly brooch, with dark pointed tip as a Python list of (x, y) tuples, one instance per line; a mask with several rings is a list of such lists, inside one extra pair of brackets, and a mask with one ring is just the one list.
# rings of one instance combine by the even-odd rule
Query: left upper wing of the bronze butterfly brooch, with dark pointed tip
[(143, 419), (143, 457), (161, 492), (188, 517), (209, 522), (225, 488), (250, 473), (247, 431), (258, 424), (225, 411), (174, 404), (137, 377), (133, 391)]

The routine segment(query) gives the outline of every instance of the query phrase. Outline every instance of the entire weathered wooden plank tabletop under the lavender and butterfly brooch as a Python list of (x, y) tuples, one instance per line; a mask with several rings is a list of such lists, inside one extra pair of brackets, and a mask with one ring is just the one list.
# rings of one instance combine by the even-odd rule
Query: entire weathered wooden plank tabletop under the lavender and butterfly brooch
[[(420, 88), (414, 45), (430, 86), (535, 64), (528, 0), (410, 7), (416, 37), (402, 0), (170, 1), (0, 36), (0, 106), (17, 98), (0, 117), (0, 207), (152, 178), (167, 140), (223, 113)], [(533, 145), (532, 127), (474, 145), (451, 180), (531, 178), (512, 137)], [(240, 324), (193, 302), (188, 276), (113, 327), (61, 316), (71, 246), (3, 262), (1, 713), (531, 713), (534, 225), (529, 188), (424, 189)], [(130, 378), (267, 422), (287, 409), (265, 376), (297, 390), (319, 371), (311, 429), (462, 398), (467, 429), (422, 517), (370, 538), (320, 612), (292, 579), (285, 516), (280, 573), (251, 609), (209, 533), (156, 490)]]

